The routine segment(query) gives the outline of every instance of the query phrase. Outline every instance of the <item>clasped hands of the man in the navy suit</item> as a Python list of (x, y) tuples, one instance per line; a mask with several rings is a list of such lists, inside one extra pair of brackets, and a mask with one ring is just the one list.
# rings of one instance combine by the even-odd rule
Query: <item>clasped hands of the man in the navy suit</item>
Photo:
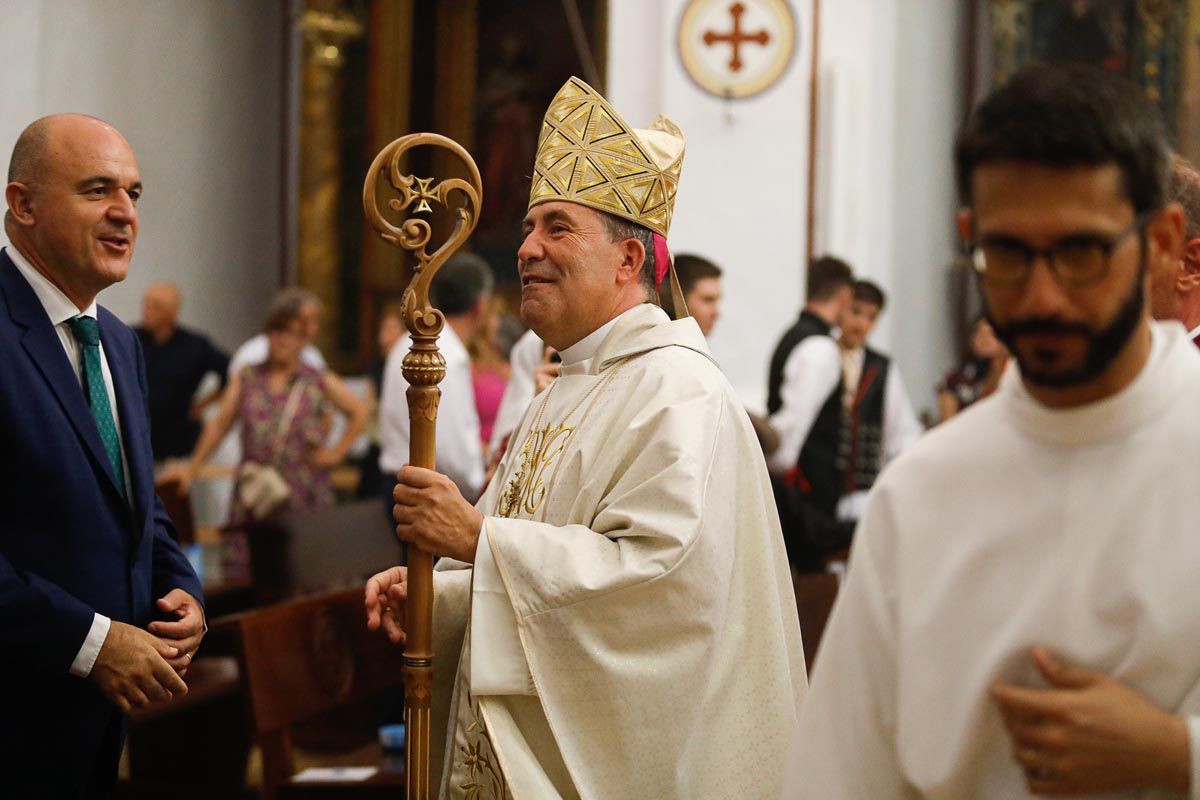
[(157, 606), (175, 619), (150, 622), (149, 630), (113, 620), (88, 675), (125, 712), (187, 694), (184, 675), (204, 638), (204, 612), (182, 589)]

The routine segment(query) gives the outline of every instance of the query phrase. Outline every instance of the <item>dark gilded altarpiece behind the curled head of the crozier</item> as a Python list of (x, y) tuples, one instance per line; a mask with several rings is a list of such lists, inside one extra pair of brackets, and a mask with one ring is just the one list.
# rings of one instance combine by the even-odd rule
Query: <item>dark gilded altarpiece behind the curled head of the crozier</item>
[[(294, 115), (300, 126), (294, 273), (325, 301), (323, 353), (338, 369), (360, 371), (378, 357), (379, 318), (398, 301), (412, 269), (408, 255), (365, 229), (356, 187), (371, 158), (416, 131), (466, 146), (485, 187), (470, 246), (494, 270), (499, 293), (515, 296), (541, 110), (568, 76), (602, 86), (607, 4), (295, 1), (302, 67)], [(404, 166), (448, 178), (456, 168)], [(440, 212), (431, 222), (434, 236), (452, 224)]]

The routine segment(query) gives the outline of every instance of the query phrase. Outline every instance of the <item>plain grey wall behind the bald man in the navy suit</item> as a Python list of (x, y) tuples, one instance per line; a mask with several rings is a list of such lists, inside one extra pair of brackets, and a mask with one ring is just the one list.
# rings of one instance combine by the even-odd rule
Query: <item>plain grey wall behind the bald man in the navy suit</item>
[(8, 0), (0, 158), (37, 116), (83, 112), (130, 140), (145, 196), (130, 277), (101, 295), (126, 321), (154, 281), (182, 321), (232, 348), (278, 285), (283, 7), (188, 0)]

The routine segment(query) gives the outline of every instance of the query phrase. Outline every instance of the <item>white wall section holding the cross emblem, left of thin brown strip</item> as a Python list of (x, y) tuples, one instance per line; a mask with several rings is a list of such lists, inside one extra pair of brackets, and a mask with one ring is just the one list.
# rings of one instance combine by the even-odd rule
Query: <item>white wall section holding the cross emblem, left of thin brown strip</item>
[[(740, 101), (708, 95), (676, 47), (685, 0), (610, 0), (607, 91), (632, 125), (659, 113), (688, 139), (668, 242), (725, 271), (721, 319), (709, 344), (730, 383), (766, 405), (767, 361), (803, 296), (808, 185), (806, 44), (766, 92)], [(802, 12), (797, 8), (797, 12)], [(811, 30), (797, 20), (799, 36)]]

